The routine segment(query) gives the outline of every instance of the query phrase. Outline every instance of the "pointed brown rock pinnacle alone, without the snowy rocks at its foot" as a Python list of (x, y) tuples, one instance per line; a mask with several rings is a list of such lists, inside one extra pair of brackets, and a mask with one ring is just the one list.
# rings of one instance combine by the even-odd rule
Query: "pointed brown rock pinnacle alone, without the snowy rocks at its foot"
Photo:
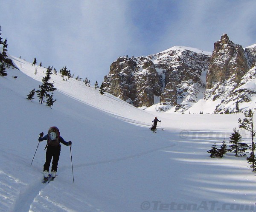
[(214, 44), (204, 99), (214, 101), (232, 92), (248, 70), (244, 49), (230, 41), (227, 34), (223, 34), (221, 40)]

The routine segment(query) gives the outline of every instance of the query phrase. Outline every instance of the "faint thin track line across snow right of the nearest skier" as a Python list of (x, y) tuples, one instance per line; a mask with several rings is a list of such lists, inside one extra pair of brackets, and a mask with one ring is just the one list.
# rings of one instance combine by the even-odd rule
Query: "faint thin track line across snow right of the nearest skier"
[(153, 152), (163, 150), (163, 149), (166, 149), (166, 148), (169, 148), (169, 147), (174, 147), (175, 145), (176, 144), (173, 143), (172, 145), (168, 145), (166, 147), (156, 148), (156, 149), (153, 149), (153, 150), (145, 151), (145, 152), (138, 153), (138, 154), (131, 155), (131, 156), (127, 156), (127, 157), (116, 158), (116, 159), (111, 159), (111, 160), (106, 160), (106, 161), (99, 161), (99, 162), (91, 162), (91, 163), (87, 163), (87, 164), (80, 164), (80, 165), (76, 165), (74, 167), (79, 168), (79, 167), (95, 166), (95, 165), (99, 165), (99, 164), (116, 163), (116, 162), (119, 162), (119, 161), (125, 161), (125, 160), (128, 160), (128, 159), (138, 158), (138, 157), (141, 157), (143, 155), (147, 155), (149, 153), (153, 153)]

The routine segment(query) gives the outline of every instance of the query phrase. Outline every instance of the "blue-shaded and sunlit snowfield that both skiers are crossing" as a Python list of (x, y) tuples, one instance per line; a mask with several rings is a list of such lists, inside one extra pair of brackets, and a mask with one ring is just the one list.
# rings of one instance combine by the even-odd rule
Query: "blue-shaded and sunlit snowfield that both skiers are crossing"
[[(256, 210), (255, 173), (246, 159), (207, 153), (214, 142), (228, 141), (242, 114), (140, 110), (60, 74), (52, 75), (57, 101), (51, 109), (37, 97), (26, 99), (46, 69), (37, 67), (35, 75), (36, 66), (13, 62), (20, 71), (0, 77), (0, 211)], [(152, 133), (155, 116), (161, 122)], [(49, 184), (41, 183), (44, 141), (30, 165), (38, 134), (51, 126), (73, 142), (74, 183), (70, 147), (62, 145), (58, 176)], [(249, 133), (241, 133), (250, 144)]]

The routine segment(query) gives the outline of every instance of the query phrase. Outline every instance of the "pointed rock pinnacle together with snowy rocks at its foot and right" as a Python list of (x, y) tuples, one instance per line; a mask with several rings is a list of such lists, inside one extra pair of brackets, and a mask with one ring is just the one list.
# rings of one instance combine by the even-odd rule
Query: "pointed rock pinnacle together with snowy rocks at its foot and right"
[(215, 113), (236, 112), (233, 109), (236, 102), (251, 101), (249, 96), (256, 92), (244, 85), (255, 79), (255, 50), (247, 48), (245, 52), (240, 45), (230, 41), (227, 34), (215, 42), (204, 94), (205, 100), (221, 100)]

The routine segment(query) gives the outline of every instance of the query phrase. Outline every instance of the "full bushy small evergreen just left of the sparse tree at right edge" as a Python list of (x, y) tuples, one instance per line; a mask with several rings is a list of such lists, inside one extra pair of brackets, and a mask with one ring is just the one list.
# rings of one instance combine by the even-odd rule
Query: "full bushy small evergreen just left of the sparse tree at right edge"
[(230, 135), (230, 143), (232, 143), (232, 145), (230, 145), (230, 151), (236, 153), (235, 156), (245, 156), (248, 145), (245, 143), (241, 143), (241, 141), (243, 140), (241, 134), (239, 133), (239, 130), (237, 130), (236, 128), (233, 130), (234, 133), (231, 133)]

